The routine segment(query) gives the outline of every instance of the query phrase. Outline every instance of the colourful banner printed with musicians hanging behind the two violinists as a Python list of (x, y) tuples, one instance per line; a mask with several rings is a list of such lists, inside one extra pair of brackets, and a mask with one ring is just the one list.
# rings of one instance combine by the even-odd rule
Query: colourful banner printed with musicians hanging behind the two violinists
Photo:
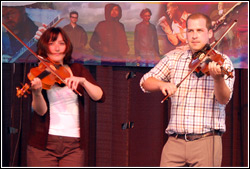
[[(120, 7), (119, 28), (110, 22), (110, 7)], [(85, 65), (117, 65), (152, 67), (164, 54), (175, 48), (187, 47), (185, 41), (185, 19), (191, 13), (202, 12), (211, 17), (214, 26), (214, 38), (218, 39), (237, 20), (223, 41), (216, 47), (218, 51), (230, 57), (235, 68), (248, 67), (248, 2), (3, 2), (2, 21), (17, 32), (24, 42), (36, 51), (37, 41), (33, 38), (42, 24), (48, 27), (64, 27), (70, 23), (69, 13), (79, 13), (77, 24), (87, 34), (87, 43), (80, 49), (74, 47), (73, 61)], [(176, 12), (182, 14), (182, 25), (175, 22)], [(17, 13), (10, 8), (24, 9), (18, 21)], [(150, 29), (142, 22), (140, 13), (148, 8), (151, 11)], [(219, 9), (223, 9), (219, 11)], [(27, 28), (27, 18), (33, 30)], [(22, 18), (23, 17), (23, 18)], [(12, 21), (16, 19), (15, 22)], [(221, 21), (222, 20), (222, 21)], [(221, 21), (221, 22), (218, 22)], [(31, 27), (29, 27), (30, 29)], [(156, 41), (154, 32), (156, 31)], [(124, 36), (122, 35), (124, 33)], [(168, 35), (171, 33), (175, 39)], [(27, 35), (31, 34), (31, 35)], [(27, 38), (28, 37), (28, 38)], [(70, 37), (71, 38), (71, 37)], [(184, 38), (184, 39), (181, 39)], [(110, 46), (110, 47), (109, 47)], [(37, 59), (13, 36), (2, 28), (2, 60), (4, 63), (36, 62)]]

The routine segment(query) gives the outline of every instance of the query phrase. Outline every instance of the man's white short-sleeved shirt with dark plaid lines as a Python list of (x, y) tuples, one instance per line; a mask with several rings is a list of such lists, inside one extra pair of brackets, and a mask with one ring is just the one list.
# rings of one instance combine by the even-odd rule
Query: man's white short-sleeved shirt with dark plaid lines
[[(225, 61), (223, 66), (233, 70), (233, 64), (227, 56), (223, 56)], [(192, 53), (190, 50), (173, 50), (167, 53), (164, 58), (148, 73), (141, 81), (142, 83), (149, 77), (172, 82), (177, 85), (189, 72), (189, 63)], [(233, 72), (234, 76), (234, 72)], [(229, 89), (231, 90), (230, 99), (233, 93), (235, 77), (224, 76)], [(228, 100), (229, 102), (229, 100)], [(202, 134), (212, 129), (226, 131), (225, 107), (214, 98), (214, 81), (211, 76), (204, 75), (198, 78), (192, 73), (181, 83), (176, 93), (171, 96), (171, 117), (166, 129), (166, 133), (173, 134)]]

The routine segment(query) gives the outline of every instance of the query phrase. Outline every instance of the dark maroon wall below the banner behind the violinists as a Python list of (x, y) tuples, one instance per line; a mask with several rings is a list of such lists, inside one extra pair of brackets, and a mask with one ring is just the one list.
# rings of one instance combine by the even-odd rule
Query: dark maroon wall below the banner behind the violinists
[[(2, 165), (26, 166), (31, 96), (16, 97), (32, 64), (2, 64)], [(160, 92), (143, 93), (139, 81), (150, 68), (86, 66), (106, 93), (106, 102), (86, 97), (86, 165), (159, 166), (167, 140), (170, 101)], [(224, 167), (248, 166), (248, 72), (236, 69), (222, 137)], [(204, 152), (206, 153), (206, 152)]]

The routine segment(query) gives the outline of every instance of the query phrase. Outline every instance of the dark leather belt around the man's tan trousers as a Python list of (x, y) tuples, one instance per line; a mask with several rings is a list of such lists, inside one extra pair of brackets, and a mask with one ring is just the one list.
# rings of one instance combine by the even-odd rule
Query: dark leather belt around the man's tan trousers
[(194, 141), (194, 140), (198, 140), (200, 138), (204, 138), (204, 137), (208, 137), (208, 136), (213, 136), (213, 135), (222, 135), (222, 132), (220, 132), (219, 130), (215, 130), (215, 131), (211, 131), (211, 132), (207, 132), (205, 134), (171, 134), (170, 136), (175, 137), (175, 138), (180, 138), (186, 141)]

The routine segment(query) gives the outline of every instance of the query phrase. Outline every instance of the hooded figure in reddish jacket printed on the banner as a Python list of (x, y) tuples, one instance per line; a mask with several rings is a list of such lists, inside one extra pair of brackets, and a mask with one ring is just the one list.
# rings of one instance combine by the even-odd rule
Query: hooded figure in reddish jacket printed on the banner
[(102, 61), (126, 62), (129, 51), (124, 25), (119, 22), (122, 9), (117, 4), (105, 6), (105, 20), (97, 24), (90, 40), (90, 47), (99, 52)]

